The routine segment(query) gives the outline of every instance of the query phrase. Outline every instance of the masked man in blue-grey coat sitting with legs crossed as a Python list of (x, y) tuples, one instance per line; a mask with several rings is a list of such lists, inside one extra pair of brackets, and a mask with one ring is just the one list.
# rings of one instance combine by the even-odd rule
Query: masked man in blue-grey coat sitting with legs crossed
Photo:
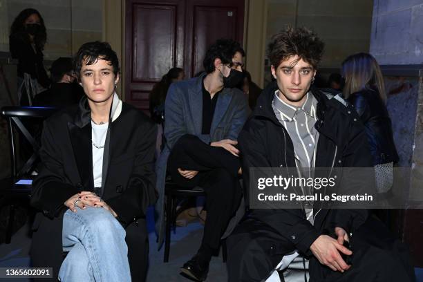
[(160, 199), (164, 198), (166, 171), (177, 185), (200, 186), (206, 192), (203, 241), (197, 254), (181, 268), (196, 281), (205, 280), (211, 256), (241, 200), (236, 139), (249, 109), (236, 86), (243, 79), (244, 55), (238, 42), (216, 41), (205, 55), (205, 73), (171, 84), (164, 106), (166, 145), (156, 164)]

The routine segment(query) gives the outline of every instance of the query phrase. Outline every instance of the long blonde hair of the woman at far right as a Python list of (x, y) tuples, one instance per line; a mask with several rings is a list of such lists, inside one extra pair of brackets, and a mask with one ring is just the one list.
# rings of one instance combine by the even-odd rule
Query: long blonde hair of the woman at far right
[(345, 77), (344, 97), (364, 89), (379, 91), (382, 101), (386, 102), (384, 78), (376, 59), (368, 53), (358, 53), (347, 57), (341, 66), (342, 76)]

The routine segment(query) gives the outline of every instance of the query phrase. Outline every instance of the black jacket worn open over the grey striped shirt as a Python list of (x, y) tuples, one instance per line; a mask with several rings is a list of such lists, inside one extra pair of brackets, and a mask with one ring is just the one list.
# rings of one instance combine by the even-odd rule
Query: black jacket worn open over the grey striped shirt
[[(292, 140), (272, 109), (276, 88), (276, 82), (265, 88), (238, 137), (246, 187), (249, 187), (250, 167), (296, 167)], [(318, 101), (314, 125), (319, 131), (315, 166), (371, 167), (364, 127), (353, 107), (340, 97), (317, 89), (312, 89), (312, 94)], [(358, 192), (366, 180), (349, 181), (354, 182), (350, 184)], [(310, 255), (310, 245), (323, 229), (338, 226), (353, 232), (364, 223), (368, 212), (366, 209), (317, 209), (314, 205), (314, 226), (306, 219), (303, 209), (252, 209), (250, 216), (270, 225), (297, 250)]]

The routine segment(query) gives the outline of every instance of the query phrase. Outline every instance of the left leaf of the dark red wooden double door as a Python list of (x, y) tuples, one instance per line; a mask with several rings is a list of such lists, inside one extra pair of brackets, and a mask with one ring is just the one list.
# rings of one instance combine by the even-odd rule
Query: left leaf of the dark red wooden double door
[(126, 1), (125, 100), (148, 111), (153, 85), (183, 65), (185, 1)]

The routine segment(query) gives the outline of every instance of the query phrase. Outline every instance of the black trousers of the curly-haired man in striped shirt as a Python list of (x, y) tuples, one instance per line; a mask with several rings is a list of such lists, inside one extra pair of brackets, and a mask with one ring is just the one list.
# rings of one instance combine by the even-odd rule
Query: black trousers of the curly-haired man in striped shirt
[[(269, 225), (247, 218), (227, 238), (229, 282), (267, 279), (284, 254), (295, 247)], [(352, 267), (334, 272), (310, 258), (310, 281), (396, 282), (415, 281), (407, 247), (394, 238), (379, 220), (369, 218), (353, 234)]]

